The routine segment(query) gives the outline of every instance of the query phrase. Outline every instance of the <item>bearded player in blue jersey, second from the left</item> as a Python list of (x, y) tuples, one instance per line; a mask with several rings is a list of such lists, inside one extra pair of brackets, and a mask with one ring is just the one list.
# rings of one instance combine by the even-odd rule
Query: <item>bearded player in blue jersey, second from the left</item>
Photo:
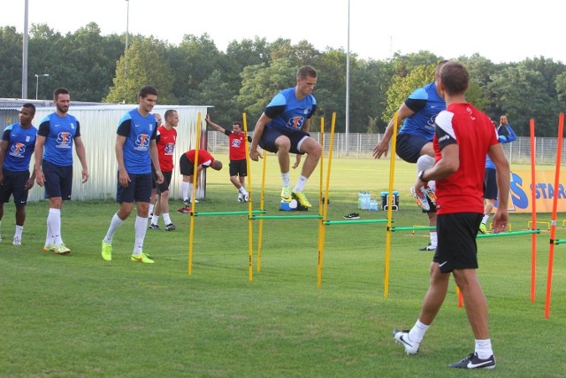
[(53, 92), (55, 112), (45, 117), (37, 131), (35, 141), (35, 180), (45, 187), (50, 200), (47, 216), (47, 236), (43, 251), (66, 255), (71, 250), (61, 236), (61, 208), (63, 201), (71, 199), (73, 189), (73, 144), (82, 165), (82, 182), (88, 181), (87, 154), (80, 139), (79, 120), (68, 114), (71, 96), (65, 88)]

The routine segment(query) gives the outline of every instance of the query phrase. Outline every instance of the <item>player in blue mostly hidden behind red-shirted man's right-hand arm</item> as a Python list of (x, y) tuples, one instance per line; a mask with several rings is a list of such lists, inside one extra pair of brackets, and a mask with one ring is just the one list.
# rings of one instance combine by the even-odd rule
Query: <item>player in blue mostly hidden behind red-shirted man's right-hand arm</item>
[[(497, 127), (497, 123), (493, 121), (493, 126)], [(497, 140), (501, 144), (511, 143), (516, 141), (515, 131), (509, 125), (506, 115), (502, 115), (497, 127)], [(479, 225), (479, 232), (486, 234), (487, 220), (492, 213), (495, 200), (497, 199), (497, 173), (495, 172), (495, 165), (489, 156), (486, 157), (486, 174), (484, 176), (484, 199), (486, 200), (486, 207), (484, 207), (484, 218)]]

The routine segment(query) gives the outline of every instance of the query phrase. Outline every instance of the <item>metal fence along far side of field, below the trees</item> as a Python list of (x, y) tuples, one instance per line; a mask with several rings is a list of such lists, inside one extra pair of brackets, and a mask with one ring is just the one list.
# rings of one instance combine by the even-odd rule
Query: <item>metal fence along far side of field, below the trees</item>
[[(253, 135), (253, 133), (249, 133)], [(320, 142), (320, 133), (310, 133)], [(330, 135), (327, 135), (330, 137)], [(381, 141), (383, 134), (345, 133), (334, 134), (334, 158), (371, 158), (375, 146)], [(539, 165), (554, 165), (556, 163), (557, 138), (535, 138), (536, 162)], [(330, 141), (325, 141), (325, 151), (328, 152)], [(228, 153), (228, 137), (215, 131), (208, 132), (208, 149), (211, 153)], [(531, 164), (531, 138), (517, 137), (515, 142), (503, 144), (503, 150), (511, 164)], [(562, 140), (561, 164), (566, 163), (566, 143)]]

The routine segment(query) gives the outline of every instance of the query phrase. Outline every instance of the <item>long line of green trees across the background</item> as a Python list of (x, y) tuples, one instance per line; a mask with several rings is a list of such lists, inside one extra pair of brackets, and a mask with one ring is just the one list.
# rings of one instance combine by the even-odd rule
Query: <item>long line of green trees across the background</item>
[[(21, 96), (23, 35), (15, 27), (0, 27), (0, 97)], [(153, 85), (159, 104), (212, 105), (212, 119), (221, 125), (241, 120), (249, 128), (279, 90), (295, 84), (299, 66), (317, 69), (317, 118), (337, 113), (336, 132), (345, 131), (346, 66), (342, 49), (315, 49), (310, 42), (292, 44), (279, 38), (232, 41), (218, 50), (210, 35), (184, 35), (179, 45), (152, 36), (101, 35), (96, 23), (65, 35), (46, 24), (30, 27), (28, 93), (35, 91), (34, 74), (42, 77), (39, 98), (50, 99), (53, 89), (65, 87), (72, 100), (136, 104), (138, 90)], [(538, 136), (555, 136), (558, 113), (566, 110), (566, 69), (551, 58), (525, 58), (495, 64), (473, 54), (440, 57), (419, 51), (373, 60), (350, 53), (350, 116), (352, 133), (382, 133), (409, 93), (433, 80), (442, 58), (463, 62), (470, 70), (467, 98), (499, 120), (509, 116), (517, 135), (529, 135), (529, 120)], [(319, 122), (314, 120), (317, 127)], [(315, 128), (316, 131), (316, 128)]]

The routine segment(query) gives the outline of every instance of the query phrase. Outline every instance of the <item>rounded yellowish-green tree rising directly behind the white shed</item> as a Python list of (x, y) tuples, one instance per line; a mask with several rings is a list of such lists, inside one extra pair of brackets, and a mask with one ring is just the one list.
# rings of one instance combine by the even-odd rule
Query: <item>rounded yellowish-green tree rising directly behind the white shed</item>
[(159, 103), (178, 104), (172, 90), (172, 69), (161, 58), (164, 49), (164, 42), (157, 42), (153, 38), (134, 39), (126, 56), (119, 59), (114, 86), (104, 101), (137, 104), (140, 89), (152, 85), (159, 93)]

